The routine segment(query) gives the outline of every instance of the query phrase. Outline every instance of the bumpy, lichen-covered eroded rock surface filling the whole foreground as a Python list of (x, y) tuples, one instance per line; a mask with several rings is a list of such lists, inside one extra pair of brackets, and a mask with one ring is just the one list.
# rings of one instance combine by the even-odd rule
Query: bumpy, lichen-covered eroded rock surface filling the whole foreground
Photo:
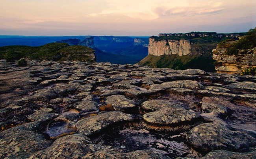
[(0, 61), (0, 158), (255, 158), (255, 76)]

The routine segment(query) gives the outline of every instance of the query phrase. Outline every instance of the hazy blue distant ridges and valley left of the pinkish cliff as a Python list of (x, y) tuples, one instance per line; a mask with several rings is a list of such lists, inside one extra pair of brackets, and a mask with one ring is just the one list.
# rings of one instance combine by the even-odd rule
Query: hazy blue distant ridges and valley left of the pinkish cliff
[(68, 43), (95, 50), (98, 62), (135, 64), (148, 54), (147, 37), (128, 36), (0, 36), (0, 46), (42, 46), (47, 43)]

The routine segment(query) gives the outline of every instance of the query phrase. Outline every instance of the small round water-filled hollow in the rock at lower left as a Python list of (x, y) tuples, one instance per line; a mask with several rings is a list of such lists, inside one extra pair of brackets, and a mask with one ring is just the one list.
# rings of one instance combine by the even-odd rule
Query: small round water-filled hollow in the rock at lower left
[(70, 127), (68, 123), (63, 120), (56, 120), (50, 122), (46, 126), (44, 133), (48, 134), (51, 139), (56, 139), (61, 136), (75, 133), (77, 128)]

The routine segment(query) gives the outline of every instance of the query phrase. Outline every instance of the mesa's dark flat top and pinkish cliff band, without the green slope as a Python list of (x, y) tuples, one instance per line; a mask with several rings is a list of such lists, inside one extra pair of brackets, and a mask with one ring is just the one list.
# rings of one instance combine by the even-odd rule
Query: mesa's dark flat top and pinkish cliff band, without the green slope
[(211, 54), (211, 50), (217, 46), (218, 42), (229, 38), (238, 39), (243, 34), (217, 34), (215, 32), (159, 34), (159, 36), (149, 38), (148, 54), (154, 56)]

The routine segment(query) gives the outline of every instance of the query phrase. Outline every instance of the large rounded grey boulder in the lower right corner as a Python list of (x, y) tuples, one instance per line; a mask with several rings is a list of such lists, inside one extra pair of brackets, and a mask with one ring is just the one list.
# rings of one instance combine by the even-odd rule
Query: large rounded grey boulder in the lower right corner
[(256, 134), (232, 131), (222, 121), (195, 126), (188, 133), (189, 143), (200, 152), (239, 150), (256, 144)]

